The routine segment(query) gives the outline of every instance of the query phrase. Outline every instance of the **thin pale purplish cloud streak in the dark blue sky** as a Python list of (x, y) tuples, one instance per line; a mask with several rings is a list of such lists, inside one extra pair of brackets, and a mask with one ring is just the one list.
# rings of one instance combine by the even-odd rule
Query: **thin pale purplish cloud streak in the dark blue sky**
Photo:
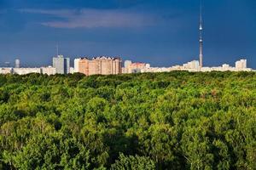
[(96, 28), (96, 27), (142, 27), (153, 26), (157, 17), (124, 10), (81, 9), (81, 10), (44, 10), (21, 9), (20, 12), (32, 14), (49, 14), (62, 20), (41, 23), (55, 28)]

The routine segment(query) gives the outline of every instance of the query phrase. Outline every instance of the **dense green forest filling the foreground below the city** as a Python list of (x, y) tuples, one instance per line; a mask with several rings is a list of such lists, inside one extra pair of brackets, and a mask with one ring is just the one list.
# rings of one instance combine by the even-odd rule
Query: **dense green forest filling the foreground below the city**
[(2, 75), (0, 169), (256, 169), (256, 73)]

